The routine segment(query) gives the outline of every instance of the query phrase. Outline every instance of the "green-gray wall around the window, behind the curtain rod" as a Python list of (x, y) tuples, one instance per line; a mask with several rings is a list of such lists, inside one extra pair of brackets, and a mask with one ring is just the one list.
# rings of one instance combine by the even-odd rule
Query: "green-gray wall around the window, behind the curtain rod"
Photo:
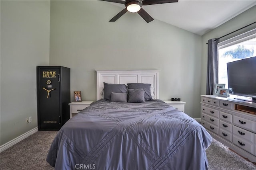
[[(228, 33), (236, 31), (246, 25), (254, 23), (255, 21), (256, 21), (256, 6), (253, 6), (252, 8), (243, 12), (242, 14), (236, 16), (235, 18), (232, 18), (231, 20), (227, 21), (226, 23), (220, 25), (216, 29), (214, 29), (214, 30), (210, 31), (209, 33), (206, 33), (202, 36), (202, 72), (201, 72), (202, 88), (201, 88), (201, 94), (206, 94), (206, 74), (207, 74), (207, 45), (206, 45), (206, 43), (208, 42), (208, 39), (222, 37)], [(234, 37), (236, 35), (239, 35), (241, 33), (249, 31), (250, 29), (253, 29), (253, 28), (256, 28), (256, 24), (253, 24), (249, 27), (241, 29), (240, 31), (232, 33), (226, 37), (223, 37), (222, 39), (220, 39), (220, 41), (224, 41), (225, 39)]]

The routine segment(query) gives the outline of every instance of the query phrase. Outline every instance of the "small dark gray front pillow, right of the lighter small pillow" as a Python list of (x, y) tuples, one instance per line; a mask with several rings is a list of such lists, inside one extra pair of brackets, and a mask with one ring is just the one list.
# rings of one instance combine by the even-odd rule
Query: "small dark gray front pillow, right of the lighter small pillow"
[(128, 89), (128, 102), (129, 103), (145, 102), (145, 90), (143, 88)]

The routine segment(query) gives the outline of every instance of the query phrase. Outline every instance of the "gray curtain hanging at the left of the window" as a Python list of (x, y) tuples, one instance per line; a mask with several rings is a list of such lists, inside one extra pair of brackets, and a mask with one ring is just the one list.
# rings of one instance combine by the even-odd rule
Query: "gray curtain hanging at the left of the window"
[(208, 63), (206, 94), (213, 94), (214, 86), (218, 83), (218, 39), (208, 40)]

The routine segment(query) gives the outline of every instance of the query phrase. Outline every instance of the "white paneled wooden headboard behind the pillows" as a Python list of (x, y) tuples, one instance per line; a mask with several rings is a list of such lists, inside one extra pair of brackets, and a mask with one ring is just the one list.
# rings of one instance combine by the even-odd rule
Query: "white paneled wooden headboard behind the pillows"
[(103, 82), (112, 84), (148, 83), (154, 88), (155, 98), (159, 99), (159, 71), (160, 70), (96, 70), (97, 100), (101, 99), (100, 92), (104, 88)]

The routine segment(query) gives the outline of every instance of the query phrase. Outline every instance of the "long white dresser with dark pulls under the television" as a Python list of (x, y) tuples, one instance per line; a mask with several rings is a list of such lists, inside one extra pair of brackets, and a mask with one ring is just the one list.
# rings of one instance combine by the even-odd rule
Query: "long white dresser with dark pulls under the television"
[(202, 95), (201, 119), (214, 139), (256, 162), (256, 103)]

